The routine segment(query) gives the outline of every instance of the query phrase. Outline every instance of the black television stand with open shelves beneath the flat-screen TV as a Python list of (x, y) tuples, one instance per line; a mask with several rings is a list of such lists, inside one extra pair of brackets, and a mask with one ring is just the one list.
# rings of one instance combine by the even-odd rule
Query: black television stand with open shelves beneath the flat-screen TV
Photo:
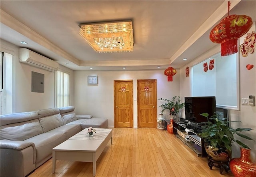
[(174, 121), (174, 134), (185, 145), (190, 147), (198, 157), (207, 157), (204, 149), (204, 141), (197, 135), (201, 132), (201, 126), (192, 122), (178, 122)]

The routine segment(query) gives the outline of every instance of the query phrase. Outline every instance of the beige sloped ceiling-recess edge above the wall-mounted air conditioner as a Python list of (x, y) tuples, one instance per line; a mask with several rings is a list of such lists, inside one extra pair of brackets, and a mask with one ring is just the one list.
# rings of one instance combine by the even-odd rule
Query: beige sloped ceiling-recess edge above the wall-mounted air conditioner
[(27, 38), (30, 38), (32, 41), (38, 43), (39, 45), (43, 46), (44, 48), (58, 54), (59, 56), (62, 56), (63, 58), (66, 58), (70, 62), (80, 65), (80, 60), (74, 58), (58, 46), (52, 44), (49, 40), (41, 36), (40, 34), (36, 33), (34, 30), (29, 28), (28, 26), (24, 25), (20, 21), (18, 21), (16, 18), (10, 16), (8, 13), (6, 13), (4, 10), (1, 9), (1, 18), (0, 22), (5, 24), (6, 26), (12, 28), (16, 32), (19, 32), (20, 34), (26, 36)]

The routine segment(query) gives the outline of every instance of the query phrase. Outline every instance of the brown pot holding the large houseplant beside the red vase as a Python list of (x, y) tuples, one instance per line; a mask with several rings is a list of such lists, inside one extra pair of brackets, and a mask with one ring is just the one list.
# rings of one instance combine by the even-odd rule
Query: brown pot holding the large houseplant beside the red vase
[(231, 152), (225, 148), (213, 147), (209, 143), (204, 143), (206, 153), (214, 160), (226, 162), (230, 159)]

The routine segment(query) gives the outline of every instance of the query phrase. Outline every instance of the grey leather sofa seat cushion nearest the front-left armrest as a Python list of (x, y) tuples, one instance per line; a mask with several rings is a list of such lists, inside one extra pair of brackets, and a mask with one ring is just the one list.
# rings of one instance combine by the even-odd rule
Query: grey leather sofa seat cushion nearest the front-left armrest
[(26, 139), (36, 146), (36, 163), (52, 154), (52, 148), (66, 140), (64, 133), (46, 132)]

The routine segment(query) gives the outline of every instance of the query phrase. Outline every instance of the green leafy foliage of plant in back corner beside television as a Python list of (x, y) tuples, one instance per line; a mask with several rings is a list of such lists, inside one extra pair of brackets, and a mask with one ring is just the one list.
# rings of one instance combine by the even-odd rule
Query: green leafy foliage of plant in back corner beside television
[(161, 114), (168, 109), (170, 111), (170, 115), (177, 115), (180, 112), (180, 109), (185, 105), (185, 103), (181, 102), (180, 96), (174, 96), (172, 99), (159, 98), (158, 100), (167, 102), (160, 105), (160, 107), (162, 107)]

